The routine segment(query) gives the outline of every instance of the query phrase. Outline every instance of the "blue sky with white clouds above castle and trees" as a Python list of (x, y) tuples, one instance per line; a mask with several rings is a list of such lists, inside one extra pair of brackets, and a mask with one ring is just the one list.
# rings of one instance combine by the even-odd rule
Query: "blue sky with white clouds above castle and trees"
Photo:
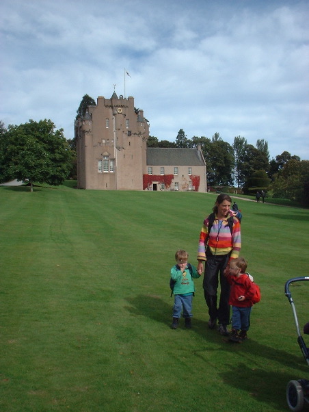
[(116, 84), (159, 140), (219, 132), (309, 159), (308, 0), (2, 0), (0, 21), (6, 126), (49, 118), (73, 138), (83, 95)]

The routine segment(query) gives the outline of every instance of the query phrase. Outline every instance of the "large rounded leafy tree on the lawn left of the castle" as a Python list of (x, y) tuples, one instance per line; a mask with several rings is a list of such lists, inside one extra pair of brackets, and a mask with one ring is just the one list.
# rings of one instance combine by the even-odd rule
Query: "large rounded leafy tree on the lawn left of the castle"
[(9, 125), (0, 140), (0, 179), (60, 185), (69, 175), (72, 151), (51, 120)]

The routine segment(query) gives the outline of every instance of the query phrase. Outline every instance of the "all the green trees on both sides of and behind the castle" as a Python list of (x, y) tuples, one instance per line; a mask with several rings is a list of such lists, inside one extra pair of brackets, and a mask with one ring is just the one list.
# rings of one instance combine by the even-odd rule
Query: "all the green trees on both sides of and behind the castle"
[[(75, 120), (85, 115), (89, 105), (96, 105), (85, 94)], [(175, 147), (192, 149), (201, 147), (206, 162), (209, 187), (234, 187), (245, 194), (258, 190), (267, 196), (287, 198), (309, 205), (309, 161), (287, 151), (269, 159), (268, 143), (257, 140), (256, 146), (236, 136), (229, 144), (219, 133), (213, 137), (187, 138), (180, 129), (175, 142), (159, 141), (149, 136), (148, 147)], [(56, 130), (51, 120), (24, 125), (9, 125), (0, 121), (0, 183), (12, 179), (59, 185), (68, 177), (77, 179), (77, 153), (75, 138), (66, 140), (63, 129)]]

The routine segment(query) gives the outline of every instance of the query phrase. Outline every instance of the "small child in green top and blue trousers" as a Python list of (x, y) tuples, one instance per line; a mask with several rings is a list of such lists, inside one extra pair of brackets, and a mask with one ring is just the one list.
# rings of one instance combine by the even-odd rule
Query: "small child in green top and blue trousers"
[(171, 328), (177, 329), (182, 311), (183, 318), (185, 318), (185, 327), (191, 328), (192, 300), (194, 294), (193, 278), (199, 278), (202, 271), (200, 270), (200, 272), (198, 272), (194, 266), (188, 263), (188, 254), (185, 250), (177, 250), (175, 259), (176, 265), (171, 269), (171, 288), (174, 294), (173, 322)]

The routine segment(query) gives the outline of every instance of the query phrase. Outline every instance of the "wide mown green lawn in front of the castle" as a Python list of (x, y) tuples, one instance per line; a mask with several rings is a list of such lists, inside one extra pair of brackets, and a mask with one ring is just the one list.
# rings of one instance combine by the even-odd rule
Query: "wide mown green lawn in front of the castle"
[[(287, 411), (308, 378), (286, 280), (309, 275), (309, 210), (237, 199), (241, 255), (262, 291), (249, 338), (170, 329), (178, 248), (196, 264), (216, 195), (0, 188), (1, 411)], [(309, 282), (291, 285), (303, 326)], [(307, 346), (308, 337), (304, 337)]]

